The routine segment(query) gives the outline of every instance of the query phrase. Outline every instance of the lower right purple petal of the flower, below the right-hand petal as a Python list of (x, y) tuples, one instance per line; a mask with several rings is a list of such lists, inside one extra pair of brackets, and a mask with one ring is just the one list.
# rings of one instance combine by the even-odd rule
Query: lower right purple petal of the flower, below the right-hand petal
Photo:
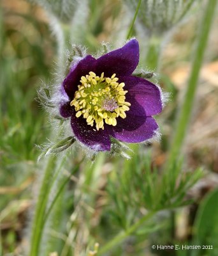
[(128, 143), (139, 143), (152, 138), (158, 128), (156, 121), (151, 116), (143, 119), (140, 116), (129, 115), (129, 123), (126, 119), (123, 119), (124, 121), (122, 122), (118, 122), (117, 120), (117, 126), (112, 128), (112, 136), (117, 140)]

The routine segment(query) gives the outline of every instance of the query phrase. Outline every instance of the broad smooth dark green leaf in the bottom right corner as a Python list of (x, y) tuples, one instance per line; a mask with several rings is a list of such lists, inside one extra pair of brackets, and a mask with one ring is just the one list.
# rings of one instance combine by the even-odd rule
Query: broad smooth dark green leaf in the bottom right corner
[(218, 255), (218, 189), (203, 200), (194, 223), (193, 244), (210, 246), (208, 250), (193, 250), (191, 256)]

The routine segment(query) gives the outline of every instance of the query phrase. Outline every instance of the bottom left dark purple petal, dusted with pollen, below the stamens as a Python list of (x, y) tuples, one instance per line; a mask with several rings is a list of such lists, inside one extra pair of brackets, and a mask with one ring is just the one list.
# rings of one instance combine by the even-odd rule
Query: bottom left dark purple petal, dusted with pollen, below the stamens
[(109, 151), (110, 136), (106, 129), (99, 129), (99, 131), (97, 131), (95, 127), (87, 125), (85, 118), (82, 116), (76, 118), (75, 110), (73, 112), (71, 116), (71, 127), (75, 137), (92, 150)]

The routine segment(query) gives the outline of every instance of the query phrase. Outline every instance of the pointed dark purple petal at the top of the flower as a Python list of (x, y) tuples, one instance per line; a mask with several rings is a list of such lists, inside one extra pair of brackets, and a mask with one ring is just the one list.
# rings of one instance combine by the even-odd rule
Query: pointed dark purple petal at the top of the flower
[(136, 69), (138, 61), (138, 41), (133, 39), (122, 48), (108, 52), (97, 59), (96, 72), (98, 75), (104, 72), (107, 77), (112, 76), (114, 73), (117, 76), (128, 76)]

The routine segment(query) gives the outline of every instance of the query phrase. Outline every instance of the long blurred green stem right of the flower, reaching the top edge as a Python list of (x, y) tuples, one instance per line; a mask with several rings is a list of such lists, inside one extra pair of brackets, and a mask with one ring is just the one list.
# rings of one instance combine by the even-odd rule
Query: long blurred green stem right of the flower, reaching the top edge
[(207, 45), (208, 35), (212, 25), (216, 4), (217, 0), (208, 0), (208, 4), (205, 8), (205, 13), (201, 21), (200, 31), (198, 35), (196, 51), (194, 54), (191, 76), (187, 84), (187, 92), (185, 94), (184, 102), (182, 104), (182, 109), (180, 111), (180, 115), (178, 116), (175, 135), (171, 143), (169, 158), (166, 166), (171, 166), (171, 164), (176, 161), (184, 143), (185, 131), (187, 130), (187, 125), (189, 124), (189, 119), (191, 116), (191, 109), (193, 108), (194, 95), (196, 93), (198, 83), (198, 76), (203, 62), (203, 54)]

